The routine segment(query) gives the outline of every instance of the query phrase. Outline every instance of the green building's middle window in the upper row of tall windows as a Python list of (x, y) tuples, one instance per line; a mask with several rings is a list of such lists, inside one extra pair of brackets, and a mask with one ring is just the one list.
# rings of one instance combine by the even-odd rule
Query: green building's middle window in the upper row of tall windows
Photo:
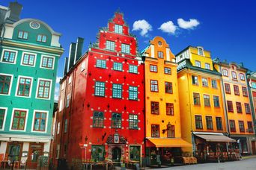
[(26, 96), (28, 97), (30, 95), (30, 89), (31, 89), (31, 78), (19, 78), (19, 84), (18, 84), (18, 91), (16, 95), (19, 96)]

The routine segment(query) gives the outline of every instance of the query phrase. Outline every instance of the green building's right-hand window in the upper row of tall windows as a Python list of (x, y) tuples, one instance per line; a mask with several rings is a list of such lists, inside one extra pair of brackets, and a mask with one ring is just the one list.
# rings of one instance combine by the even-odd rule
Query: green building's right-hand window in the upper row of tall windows
[(50, 97), (50, 88), (51, 88), (51, 81), (46, 80), (39, 80), (38, 83), (38, 91), (37, 91), (37, 98), (49, 98)]

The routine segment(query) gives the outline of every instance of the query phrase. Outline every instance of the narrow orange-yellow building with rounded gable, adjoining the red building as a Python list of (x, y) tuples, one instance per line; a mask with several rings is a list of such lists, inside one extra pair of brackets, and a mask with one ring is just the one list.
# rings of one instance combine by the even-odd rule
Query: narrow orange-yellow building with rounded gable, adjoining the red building
[[(155, 37), (142, 51), (145, 71), (146, 157), (150, 163), (171, 163), (181, 148), (191, 144), (181, 139), (177, 63), (169, 45)], [(159, 157), (159, 156), (158, 156)]]

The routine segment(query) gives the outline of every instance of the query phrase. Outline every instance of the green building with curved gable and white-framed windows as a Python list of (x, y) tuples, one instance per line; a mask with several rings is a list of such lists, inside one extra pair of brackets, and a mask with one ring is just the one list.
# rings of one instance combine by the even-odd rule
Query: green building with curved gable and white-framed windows
[(0, 6), (0, 154), (31, 168), (48, 156), (61, 34), (22, 5)]

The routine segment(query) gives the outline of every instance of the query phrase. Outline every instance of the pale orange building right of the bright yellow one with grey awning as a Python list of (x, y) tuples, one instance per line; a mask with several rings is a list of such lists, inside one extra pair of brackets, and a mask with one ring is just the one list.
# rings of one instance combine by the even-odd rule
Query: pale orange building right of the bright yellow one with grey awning
[(246, 72), (243, 63), (227, 63), (214, 60), (214, 66), (222, 73), (223, 94), (225, 95), (229, 133), (238, 142), (233, 148), (240, 148), (241, 154), (252, 154), (255, 145), (252, 109), (249, 99)]

